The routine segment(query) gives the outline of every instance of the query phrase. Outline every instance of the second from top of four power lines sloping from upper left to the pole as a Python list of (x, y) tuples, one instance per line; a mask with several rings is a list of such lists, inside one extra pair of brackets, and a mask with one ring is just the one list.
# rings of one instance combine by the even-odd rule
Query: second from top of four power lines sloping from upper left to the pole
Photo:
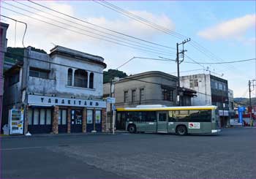
[[(15, 0), (13, 0), (13, 1), (15, 1)], [(127, 38), (120, 37), (120, 36), (117, 36), (117, 35), (114, 35), (114, 34), (110, 34), (110, 33), (105, 32), (105, 31), (100, 31), (100, 30), (98, 30), (98, 29), (96, 29), (96, 28), (91, 28), (91, 27), (89, 27), (89, 26), (85, 26), (85, 25), (80, 24), (80, 23), (76, 23), (74, 20), (67, 20), (66, 18), (61, 18), (61, 17), (59, 17), (58, 15), (54, 15), (54, 14), (52, 14), (52, 13), (45, 12), (45, 11), (43, 11), (42, 9), (37, 9), (37, 8), (35, 8), (35, 7), (31, 7), (31, 6), (29, 6), (29, 5), (26, 5), (26, 4), (21, 3), (21, 2), (19, 2), (19, 1), (15, 1), (15, 2), (18, 3), (18, 4), (22, 4), (22, 5), (25, 6), (25, 7), (29, 7), (29, 8), (31, 8), (31, 9), (36, 9), (36, 10), (39, 11), (39, 12), (43, 12), (43, 13), (45, 13), (45, 14), (47, 14), (47, 15), (50, 15), (50, 16), (59, 18), (59, 19), (61, 19), (61, 20), (66, 20), (66, 21), (69, 22), (69, 23), (75, 23), (75, 24), (78, 25), (78, 26), (83, 26), (83, 27), (85, 27), (85, 28), (89, 28), (89, 29), (91, 29), (91, 30), (93, 30), (93, 31), (99, 31), (100, 33), (108, 34), (109, 36), (116, 37), (116, 38), (119, 38), (119, 39), (124, 39), (124, 40), (127, 40), (127, 41), (129, 41), (129, 42), (135, 42), (135, 43), (137, 43), (137, 44), (139, 44), (139, 45), (145, 45), (145, 46), (147, 46), (147, 47), (154, 47), (154, 46), (151, 46), (151, 45), (146, 45), (146, 44), (142, 44), (142, 43), (140, 43), (140, 42), (136, 42), (135, 40), (127, 39)], [(38, 14), (37, 14), (37, 15), (38, 15)], [(164, 51), (162, 48), (159, 48), (159, 47), (154, 47), (154, 49), (158, 49), (158, 50)], [(166, 52), (166, 51), (165, 51), (165, 52)]]

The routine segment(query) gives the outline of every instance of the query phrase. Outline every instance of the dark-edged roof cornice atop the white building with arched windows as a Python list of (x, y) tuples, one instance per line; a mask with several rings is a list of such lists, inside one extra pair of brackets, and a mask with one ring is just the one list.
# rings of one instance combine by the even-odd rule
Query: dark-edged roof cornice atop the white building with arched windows
[(55, 47), (53, 47), (53, 49), (50, 50), (50, 57), (54, 55), (66, 56), (69, 58), (77, 58), (83, 61), (89, 61), (94, 64), (100, 64), (105, 68), (107, 67), (107, 65), (103, 62), (104, 58), (102, 58), (101, 56), (94, 56), (89, 53), (83, 53), (78, 50), (72, 50), (70, 48), (62, 47), (59, 45), (56, 45)]

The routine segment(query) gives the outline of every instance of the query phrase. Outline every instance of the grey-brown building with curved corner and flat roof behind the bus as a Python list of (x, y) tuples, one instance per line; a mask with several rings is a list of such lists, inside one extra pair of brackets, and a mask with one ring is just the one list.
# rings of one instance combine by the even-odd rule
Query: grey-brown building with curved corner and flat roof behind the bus
[[(103, 91), (105, 97), (112, 96), (116, 98), (116, 108), (136, 107), (140, 104), (176, 106), (177, 80), (176, 76), (165, 72), (143, 72), (113, 82), (111, 87), (112, 93), (110, 93), (110, 83), (105, 83)], [(195, 91), (186, 88), (183, 88), (182, 91), (184, 91), (182, 103), (184, 105), (191, 105), (191, 98), (195, 95)], [(109, 128), (110, 121), (109, 117)], [(124, 129), (124, 123), (124, 121), (116, 121), (117, 129)]]

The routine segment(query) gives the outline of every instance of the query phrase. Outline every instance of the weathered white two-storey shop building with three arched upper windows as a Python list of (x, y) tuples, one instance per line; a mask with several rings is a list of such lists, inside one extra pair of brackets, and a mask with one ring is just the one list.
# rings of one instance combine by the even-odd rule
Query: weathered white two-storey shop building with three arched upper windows
[(23, 62), (5, 72), (4, 123), (8, 110), (24, 110), (24, 132), (104, 132), (104, 58), (56, 46), (50, 54), (30, 47)]

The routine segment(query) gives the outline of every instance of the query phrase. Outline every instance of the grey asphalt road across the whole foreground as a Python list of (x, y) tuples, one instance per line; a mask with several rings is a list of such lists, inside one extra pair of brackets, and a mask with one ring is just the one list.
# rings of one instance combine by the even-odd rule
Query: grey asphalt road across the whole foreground
[(256, 178), (256, 129), (1, 138), (1, 178)]

